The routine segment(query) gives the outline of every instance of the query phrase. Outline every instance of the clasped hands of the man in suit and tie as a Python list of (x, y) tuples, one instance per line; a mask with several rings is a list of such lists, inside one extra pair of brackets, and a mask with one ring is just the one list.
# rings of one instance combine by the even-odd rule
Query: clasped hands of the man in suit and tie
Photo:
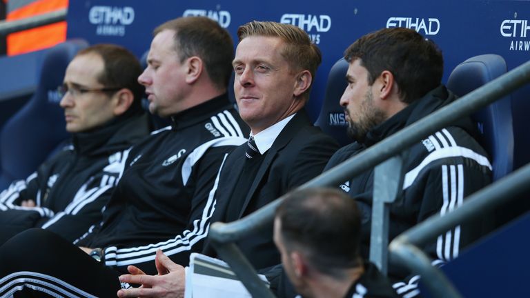
[(161, 250), (157, 250), (155, 265), (158, 275), (146, 275), (139, 268), (128, 266), (130, 275), (121, 275), (119, 281), (141, 284), (141, 287), (119, 290), (118, 297), (183, 298), (184, 267), (175, 264)]

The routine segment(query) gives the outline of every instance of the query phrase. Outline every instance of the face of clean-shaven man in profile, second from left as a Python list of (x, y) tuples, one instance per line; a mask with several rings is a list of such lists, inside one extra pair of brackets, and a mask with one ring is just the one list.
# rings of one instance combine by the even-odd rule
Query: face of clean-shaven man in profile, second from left
[(174, 36), (174, 30), (163, 30), (153, 38), (148, 66), (138, 77), (139, 83), (146, 86), (149, 111), (160, 117), (188, 108), (184, 106), (188, 90), (185, 83), (187, 68), (180, 63)]

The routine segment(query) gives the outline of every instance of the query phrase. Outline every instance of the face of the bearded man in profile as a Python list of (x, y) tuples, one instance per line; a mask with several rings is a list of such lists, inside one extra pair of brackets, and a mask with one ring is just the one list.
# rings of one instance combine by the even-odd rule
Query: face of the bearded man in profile
[(346, 121), (349, 123), (348, 135), (355, 141), (363, 141), (366, 132), (386, 119), (383, 110), (373, 99), (373, 86), (369, 86), (368, 70), (361, 66), (361, 60), (355, 59), (346, 72), (348, 86), (340, 99)]

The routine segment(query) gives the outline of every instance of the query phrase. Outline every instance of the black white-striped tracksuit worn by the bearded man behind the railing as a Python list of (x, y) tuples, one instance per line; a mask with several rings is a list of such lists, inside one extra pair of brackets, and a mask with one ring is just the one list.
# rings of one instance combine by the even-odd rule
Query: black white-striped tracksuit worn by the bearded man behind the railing
[[(330, 159), (326, 170), (353, 157), (369, 146), (389, 137), (397, 130), (418, 121), (431, 112), (454, 101), (455, 96), (444, 86), (432, 90), (422, 99), (409, 104), (390, 119), (369, 130), (362, 142), (341, 148)], [(419, 141), (403, 152), (403, 192), (390, 208), (390, 240), (435, 213), (444, 215), (462, 205), (464, 197), (491, 183), (491, 164), (487, 153), (473, 139), (476, 126), (464, 118)], [(369, 256), (371, 232), (371, 204), (373, 195), (373, 170), (357, 175), (340, 186), (355, 198), (362, 213), (362, 255)], [(456, 227), (438, 237), (438, 241), (426, 248), (437, 264), (458, 257), (462, 245), (477, 235), (474, 228)], [(389, 274), (402, 277), (401, 272), (389, 268)], [(417, 284), (414, 279), (411, 284)], [(399, 286), (399, 287), (398, 287)], [(406, 286), (398, 284), (397, 290)], [(400, 292), (406, 294), (415, 290)]]

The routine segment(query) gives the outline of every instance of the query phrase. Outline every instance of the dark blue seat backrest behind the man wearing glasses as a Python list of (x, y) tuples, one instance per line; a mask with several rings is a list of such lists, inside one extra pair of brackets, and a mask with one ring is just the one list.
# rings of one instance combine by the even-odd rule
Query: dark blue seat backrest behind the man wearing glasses
[(87, 46), (86, 41), (76, 39), (46, 52), (35, 94), (0, 132), (0, 189), (15, 179), (28, 177), (68, 138), (57, 87), (63, 83), (68, 63)]

